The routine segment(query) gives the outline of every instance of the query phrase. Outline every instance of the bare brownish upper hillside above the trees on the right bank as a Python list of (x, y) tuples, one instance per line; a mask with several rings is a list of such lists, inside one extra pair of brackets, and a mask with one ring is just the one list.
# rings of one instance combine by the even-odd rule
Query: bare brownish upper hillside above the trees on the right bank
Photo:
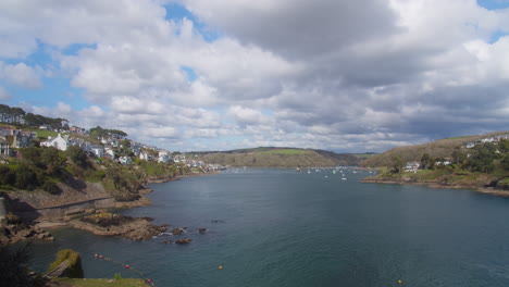
[(464, 136), (439, 139), (433, 142), (415, 146), (398, 147), (368, 158), (359, 163), (364, 167), (381, 167), (390, 166), (394, 157), (400, 157), (404, 162), (420, 161), (424, 153), (430, 154), (432, 158), (449, 158), (455, 149), (464, 150), (465, 144), (480, 140), (483, 138), (495, 137), (498, 135), (509, 134), (509, 132), (497, 132), (486, 135)]

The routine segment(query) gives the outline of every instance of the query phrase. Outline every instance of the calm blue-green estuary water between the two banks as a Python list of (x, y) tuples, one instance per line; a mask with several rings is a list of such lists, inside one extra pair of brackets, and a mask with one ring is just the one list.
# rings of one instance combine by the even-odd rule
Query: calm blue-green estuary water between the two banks
[(240, 170), (156, 184), (151, 207), (124, 213), (187, 226), (190, 245), (62, 229), (35, 245), (33, 266), (72, 248), (87, 277), (137, 276), (100, 253), (157, 286), (509, 286), (509, 199), (345, 174)]

